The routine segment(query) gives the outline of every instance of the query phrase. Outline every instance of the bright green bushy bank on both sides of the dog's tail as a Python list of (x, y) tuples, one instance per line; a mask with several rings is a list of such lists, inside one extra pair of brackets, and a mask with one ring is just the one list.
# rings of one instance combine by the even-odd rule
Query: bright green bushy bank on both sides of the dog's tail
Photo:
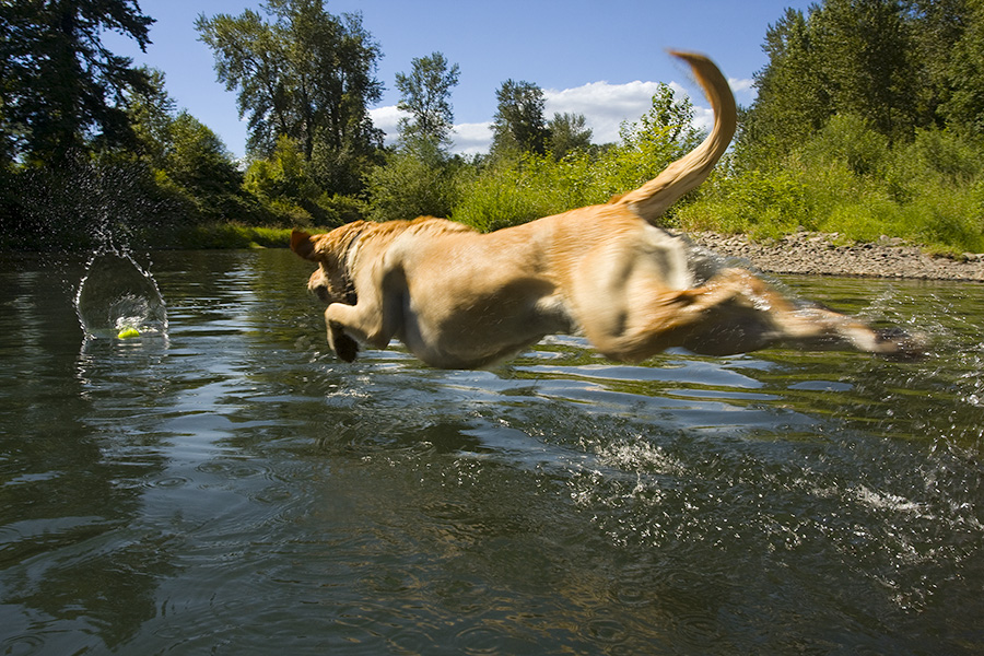
[[(657, 162), (625, 166), (629, 154)], [(526, 157), (489, 167), (464, 186), (453, 218), (479, 230), (606, 202), (661, 169), (652, 153), (613, 150), (552, 161)], [(759, 164), (750, 166), (749, 161)], [(642, 174), (642, 175), (640, 175)], [(684, 231), (773, 239), (799, 231), (845, 243), (900, 237), (937, 253), (984, 251), (984, 148), (947, 130), (890, 143), (859, 119), (835, 117), (781, 157), (733, 153), (663, 222)]]

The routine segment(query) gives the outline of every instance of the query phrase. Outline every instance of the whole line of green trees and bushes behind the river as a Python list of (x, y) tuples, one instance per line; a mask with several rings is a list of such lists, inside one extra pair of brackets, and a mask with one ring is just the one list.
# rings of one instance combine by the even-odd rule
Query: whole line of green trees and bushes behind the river
[[(507, 80), (490, 152), (452, 155), (459, 70), (432, 52), (397, 75), (405, 118), (384, 147), (368, 115), (382, 49), (361, 15), (262, 7), (196, 21), (247, 120), (236, 162), (161, 72), (103, 47), (106, 30), (151, 43), (133, 3), (0, 3), (0, 247), (215, 246), (236, 226), (420, 214), (494, 230), (605, 202), (702, 138), (666, 85), (595, 144), (583, 116), (547, 117), (539, 86)], [(984, 0), (825, 0), (787, 10), (763, 48), (735, 148), (667, 225), (984, 250)]]

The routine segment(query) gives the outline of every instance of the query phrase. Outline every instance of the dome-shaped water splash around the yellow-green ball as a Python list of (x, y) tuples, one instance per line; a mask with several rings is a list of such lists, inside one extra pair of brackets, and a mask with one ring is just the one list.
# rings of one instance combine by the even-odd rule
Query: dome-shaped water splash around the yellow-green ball
[(97, 250), (75, 293), (85, 339), (167, 335), (167, 309), (154, 277), (129, 253)]

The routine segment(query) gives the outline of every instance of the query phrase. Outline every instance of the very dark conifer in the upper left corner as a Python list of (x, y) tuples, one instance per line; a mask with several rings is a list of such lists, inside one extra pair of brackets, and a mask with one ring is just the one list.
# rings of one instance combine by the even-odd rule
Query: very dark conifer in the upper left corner
[(147, 72), (102, 43), (106, 31), (150, 44), (133, 0), (0, 2), (0, 157), (59, 164), (132, 142), (124, 93)]

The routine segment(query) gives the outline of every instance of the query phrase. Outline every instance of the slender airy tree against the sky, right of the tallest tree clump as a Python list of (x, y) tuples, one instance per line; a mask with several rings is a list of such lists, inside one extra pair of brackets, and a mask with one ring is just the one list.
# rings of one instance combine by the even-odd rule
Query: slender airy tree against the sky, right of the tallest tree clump
[(400, 92), (397, 108), (410, 115), (399, 121), (405, 141), (424, 139), (440, 145), (450, 142), (455, 121), (450, 90), (458, 84), (458, 65), (448, 68), (441, 52), (417, 57), (409, 74), (397, 73), (396, 85)]

